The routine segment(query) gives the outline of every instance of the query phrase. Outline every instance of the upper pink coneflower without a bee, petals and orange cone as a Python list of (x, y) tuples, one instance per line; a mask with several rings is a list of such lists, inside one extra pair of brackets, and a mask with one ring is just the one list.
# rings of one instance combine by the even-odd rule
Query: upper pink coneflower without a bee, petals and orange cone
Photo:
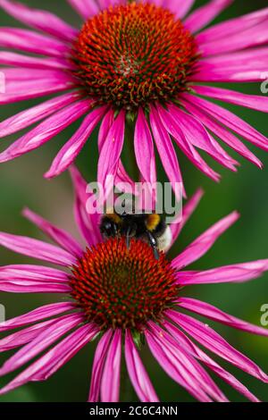
[(38, 122), (0, 155), (0, 162), (42, 146), (83, 116), (79, 130), (54, 158), (47, 178), (74, 161), (99, 122), (98, 181), (102, 183), (107, 174), (127, 176), (121, 164), (124, 140), (135, 150), (139, 172), (148, 182), (156, 179), (155, 146), (169, 180), (181, 181), (172, 140), (215, 181), (219, 174), (197, 149), (230, 170), (235, 171), (238, 163), (214, 135), (262, 166), (237, 136), (264, 150), (268, 140), (207, 98), (268, 111), (267, 97), (211, 86), (211, 82), (265, 80), (268, 8), (204, 29), (232, 0), (211, 0), (192, 13), (194, 0), (68, 3), (84, 21), (80, 29), (53, 13), (0, 0), (5, 12), (34, 29), (0, 29), (0, 46), (23, 52), (0, 52), (0, 63), (6, 66), (2, 68), (6, 91), (0, 94), (0, 104), (56, 94), (0, 123), (4, 137)]

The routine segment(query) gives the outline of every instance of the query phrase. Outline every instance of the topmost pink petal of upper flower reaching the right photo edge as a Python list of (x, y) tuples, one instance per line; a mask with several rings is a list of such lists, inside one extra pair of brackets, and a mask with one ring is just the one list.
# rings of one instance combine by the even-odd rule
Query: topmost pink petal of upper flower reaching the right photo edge
[(257, 12), (239, 16), (239, 18), (233, 18), (229, 19), (228, 21), (217, 23), (211, 28), (202, 30), (202, 32), (197, 35), (197, 41), (200, 44), (204, 44), (206, 42), (212, 42), (215, 39), (225, 38), (226, 34), (228, 34), (228, 36), (233, 34), (241, 34), (241, 32), (245, 29), (252, 28), (253, 26), (257, 27), (257, 25), (264, 21), (267, 16), (268, 7), (262, 10), (258, 10)]

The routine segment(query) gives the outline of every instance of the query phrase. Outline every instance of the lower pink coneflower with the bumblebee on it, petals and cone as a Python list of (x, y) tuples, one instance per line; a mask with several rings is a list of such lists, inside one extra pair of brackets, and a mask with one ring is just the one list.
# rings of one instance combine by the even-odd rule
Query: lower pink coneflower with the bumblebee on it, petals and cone
[[(88, 242), (87, 249), (81, 248), (69, 233), (29, 210), (24, 212), (26, 217), (54, 239), (57, 246), (0, 233), (0, 244), (5, 248), (63, 267), (62, 271), (43, 265), (2, 266), (0, 290), (62, 293), (64, 298), (0, 323), (1, 332), (10, 332), (0, 340), (0, 351), (21, 348), (0, 368), (1, 376), (29, 364), (0, 394), (30, 381), (48, 379), (97, 338), (89, 401), (119, 400), (122, 352), (138, 398), (145, 402), (158, 401), (139, 352), (145, 342), (166, 374), (197, 400), (228, 400), (205, 366), (247, 399), (258, 401), (246, 386), (200, 349), (199, 344), (260, 381), (268, 382), (268, 376), (207, 323), (181, 311), (187, 309), (238, 330), (268, 336), (264, 328), (241, 321), (197, 298), (182, 297), (180, 293), (188, 285), (249, 281), (268, 270), (267, 259), (203, 272), (184, 270), (213, 246), (238, 219), (238, 214), (234, 212), (215, 223), (172, 261), (164, 253), (155, 260), (152, 248), (141, 239), (131, 239), (128, 248), (123, 237), (106, 241), (101, 238), (100, 216), (85, 211), (85, 181), (75, 168), (71, 173), (76, 190), (76, 221)], [(197, 191), (184, 207), (182, 222), (172, 225), (173, 242), (201, 195)], [(33, 358), (35, 361), (31, 362)]]

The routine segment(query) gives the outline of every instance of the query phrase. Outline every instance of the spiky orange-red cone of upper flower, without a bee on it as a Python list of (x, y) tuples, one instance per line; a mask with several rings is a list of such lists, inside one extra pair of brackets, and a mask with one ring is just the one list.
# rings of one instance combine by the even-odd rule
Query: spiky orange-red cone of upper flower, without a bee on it
[(76, 76), (99, 103), (132, 110), (186, 88), (195, 39), (154, 4), (110, 6), (89, 19), (73, 48)]

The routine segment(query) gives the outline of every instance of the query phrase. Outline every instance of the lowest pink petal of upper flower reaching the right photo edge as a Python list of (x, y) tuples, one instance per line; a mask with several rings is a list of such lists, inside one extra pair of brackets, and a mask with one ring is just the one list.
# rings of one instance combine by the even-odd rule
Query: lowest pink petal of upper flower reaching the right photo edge
[(212, 104), (201, 97), (194, 97), (193, 95), (188, 94), (182, 94), (182, 97), (189, 103), (203, 109), (205, 113), (208, 113), (214, 119), (217, 119), (218, 122), (221, 122), (230, 130), (237, 132), (255, 146), (268, 150), (268, 139), (234, 113), (230, 113), (230, 111), (222, 108), (222, 106)]

